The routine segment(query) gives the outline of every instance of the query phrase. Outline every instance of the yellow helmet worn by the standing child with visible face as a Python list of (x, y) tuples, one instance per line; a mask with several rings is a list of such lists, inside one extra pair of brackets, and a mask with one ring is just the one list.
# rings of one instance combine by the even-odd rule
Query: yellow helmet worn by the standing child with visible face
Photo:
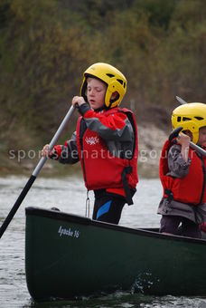
[[(83, 82), (80, 88), (80, 95), (83, 96), (85, 101), (88, 101), (87, 90), (87, 77), (95, 77), (105, 82), (108, 85), (105, 94), (105, 106), (107, 108), (114, 108), (120, 104), (126, 93), (126, 77), (123, 73), (119, 72), (114, 66), (107, 63), (94, 63), (83, 74)], [(117, 98), (111, 101), (111, 95), (117, 91)]]

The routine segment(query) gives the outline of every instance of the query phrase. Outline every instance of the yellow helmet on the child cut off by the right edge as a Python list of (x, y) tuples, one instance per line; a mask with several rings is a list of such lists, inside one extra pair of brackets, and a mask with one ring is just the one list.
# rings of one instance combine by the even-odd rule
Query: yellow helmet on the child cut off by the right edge
[(206, 126), (206, 104), (201, 102), (190, 102), (181, 105), (173, 110), (173, 130), (183, 127), (183, 130), (192, 132), (192, 142), (197, 143), (199, 130)]

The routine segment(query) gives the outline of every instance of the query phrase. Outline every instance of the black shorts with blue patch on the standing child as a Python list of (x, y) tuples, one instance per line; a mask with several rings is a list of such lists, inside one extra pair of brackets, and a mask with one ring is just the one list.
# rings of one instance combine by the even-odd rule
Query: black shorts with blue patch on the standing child
[(95, 203), (92, 219), (110, 224), (118, 224), (126, 199), (105, 189), (95, 190)]

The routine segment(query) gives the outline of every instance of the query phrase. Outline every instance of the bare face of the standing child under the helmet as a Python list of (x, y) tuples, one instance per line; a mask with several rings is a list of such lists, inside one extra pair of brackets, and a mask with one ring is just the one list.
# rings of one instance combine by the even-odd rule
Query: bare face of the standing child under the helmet
[(102, 108), (105, 104), (107, 85), (96, 78), (88, 78), (87, 97), (93, 110)]

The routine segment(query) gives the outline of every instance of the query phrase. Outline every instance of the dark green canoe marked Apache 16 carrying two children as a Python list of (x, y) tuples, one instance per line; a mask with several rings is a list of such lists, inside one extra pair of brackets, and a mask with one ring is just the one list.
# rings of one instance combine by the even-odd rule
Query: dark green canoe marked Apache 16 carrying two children
[(26, 208), (25, 273), (36, 301), (131, 290), (206, 295), (206, 241)]

